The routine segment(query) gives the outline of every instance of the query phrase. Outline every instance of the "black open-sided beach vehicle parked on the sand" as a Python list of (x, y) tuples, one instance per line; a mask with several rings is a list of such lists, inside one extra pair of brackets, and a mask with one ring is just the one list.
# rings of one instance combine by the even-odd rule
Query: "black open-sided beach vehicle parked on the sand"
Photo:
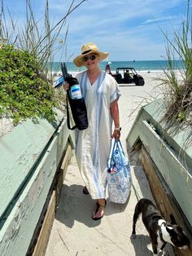
[(135, 83), (136, 86), (143, 86), (144, 79), (138, 75), (135, 68), (116, 68), (116, 74), (111, 74), (118, 83)]

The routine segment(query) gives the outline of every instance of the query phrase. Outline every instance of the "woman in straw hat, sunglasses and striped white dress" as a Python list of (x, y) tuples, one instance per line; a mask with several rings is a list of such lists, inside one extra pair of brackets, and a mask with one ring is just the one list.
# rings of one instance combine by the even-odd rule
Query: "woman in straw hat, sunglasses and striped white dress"
[[(106, 205), (107, 159), (111, 138), (120, 139), (120, 117), (117, 100), (120, 91), (116, 80), (99, 69), (99, 62), (107, 58), (107, 52), (89, 42), (81, 47), (81, 55), (74, 60), (77, 67), (87, 70), (78, 73), (81, 92), (85, 99), (89, 126), (76, 130), (76, 161), (85, 182), (83, 192), (97, 200), (94, 220), (103, 218)], [(68, 90), (68, 83), (64, 89)], [(114, 130), (112, 131), (112, 121)]]

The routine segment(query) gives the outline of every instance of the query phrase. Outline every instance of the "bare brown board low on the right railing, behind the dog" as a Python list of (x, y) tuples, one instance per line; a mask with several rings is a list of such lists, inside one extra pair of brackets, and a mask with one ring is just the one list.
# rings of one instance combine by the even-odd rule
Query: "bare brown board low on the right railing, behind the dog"
[[(176, 218), (176, 221), (181, 227), (184, 228), (187, 235), (190, 237), (191, 241), (191, 231), (189, 229), (190, 224), (187, 223), (184, 214), (178, 208), (177, 203), (172, 195), (172, 192), (168, 189), (166, 182), (164, 181), (163, 177), (160, 175), (159, 170), (157, 170), (154, 162), (151, 160), (150, 155), (146, 151), (146, 149), (142, 146), (142, 166), (145, 170), (147, 179), (150, 183), (151, 192), (155, 198), (156, 205), (158, 209), (163, 214), (164, 218), (168, 221), (169, 215), (173, 214)], [(188, 250), (180, 250), (175, 249), (176, 255), (182, 256), (191, 256), (192, 249)]]

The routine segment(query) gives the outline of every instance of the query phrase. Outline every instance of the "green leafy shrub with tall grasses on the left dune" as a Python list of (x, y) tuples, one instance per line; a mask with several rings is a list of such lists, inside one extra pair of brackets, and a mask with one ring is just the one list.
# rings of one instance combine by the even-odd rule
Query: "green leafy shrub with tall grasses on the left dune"
[[(54, 61), (55, 52), (63, 51), (66, 46), (68, 15), (83, 2), (85, 0), (74, 6), (73, 0), (63, 18), (51, 24), (49, 1), (45, 0), (42, 24), (35, 18), (31, 0), (26, 0), (26, 19), (20, 26), (1, 1), (0, 118), (12, 118), (14, 124), (30, 117), (55, 120), (54, 108), (59, 107), (62, 98), (53, 89), (50, 63)], [(65, 36), (61, 39), (60, 32), (65, 27)]]

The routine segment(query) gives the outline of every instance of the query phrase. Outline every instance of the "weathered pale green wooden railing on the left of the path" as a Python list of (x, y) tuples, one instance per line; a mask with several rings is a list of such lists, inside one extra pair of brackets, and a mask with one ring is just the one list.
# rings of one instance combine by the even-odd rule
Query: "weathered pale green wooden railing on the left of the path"
[[(23, 121), (0, 139), (0, 255), (22, 256), (33, 248), (49, 201), (58, 200), (52, 190), (59, 193), (55, 182), (63, 183), (66, 166), (60, 167), (72, 156), (73, 141), (59, 111), (54, 124)], [(41, 255), (38, 247), (35, 252)]]

